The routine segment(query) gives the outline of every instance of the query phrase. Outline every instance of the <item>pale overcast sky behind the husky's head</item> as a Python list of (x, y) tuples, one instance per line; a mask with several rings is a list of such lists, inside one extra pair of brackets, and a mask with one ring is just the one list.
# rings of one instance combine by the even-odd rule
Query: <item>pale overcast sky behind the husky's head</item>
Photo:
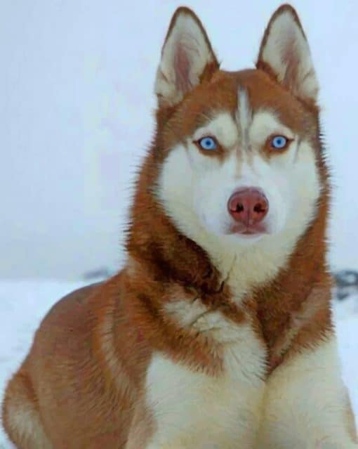
[[(76, 278), (121, 263), (152, 86), (181, 2), (9, 0), (0, 6), (0, 277)], [(253, 67), (277, 1), (186, 1), (222, 66)], [(321, 82), (336, 184), (333, 268), (358, 268), (357, 1), (297, 0)]]

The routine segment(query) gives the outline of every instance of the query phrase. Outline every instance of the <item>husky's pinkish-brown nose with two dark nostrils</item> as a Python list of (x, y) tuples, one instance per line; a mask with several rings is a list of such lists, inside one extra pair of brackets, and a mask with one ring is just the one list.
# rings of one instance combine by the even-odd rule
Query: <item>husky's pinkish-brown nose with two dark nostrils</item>
[(251, 226), (265, 218), (269, 204), (262, 190), (244, 187), (233, 193), (227, 202), (227, 209), (235, 221)]

